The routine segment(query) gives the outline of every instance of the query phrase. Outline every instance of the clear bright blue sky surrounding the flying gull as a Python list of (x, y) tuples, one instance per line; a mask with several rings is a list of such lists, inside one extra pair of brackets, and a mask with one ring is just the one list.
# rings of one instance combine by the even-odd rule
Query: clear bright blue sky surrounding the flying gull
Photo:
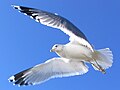
[[(114, 54), (107, 73), (57, 78), (41, 85), (18, 87), (8, 78), (22, 70), (56, 57), (51, 47), (68, 42), (63, 32), (41, 25), (14, 10), (23, 5), (57, 13), (74, 23), (96, 49), (109, 47)], [(118, 90), (120, 89), (119, 0), (2, 0), (0, 3), (0, 90)]]

